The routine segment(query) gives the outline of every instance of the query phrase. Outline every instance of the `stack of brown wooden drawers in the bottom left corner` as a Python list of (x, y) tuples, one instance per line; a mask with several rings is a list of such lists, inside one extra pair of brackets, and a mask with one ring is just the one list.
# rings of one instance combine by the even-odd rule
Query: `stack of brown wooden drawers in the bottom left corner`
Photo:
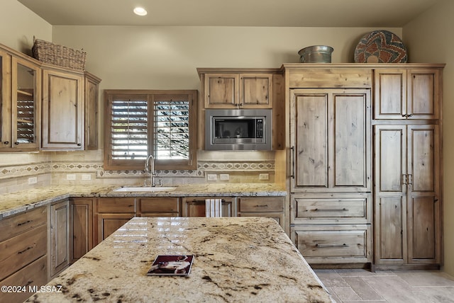
[[(0, 285), (28, 287), (48, 282), (48, 207), (0, 220)], [(0, 292), (0, 302), (23, 302), (27, 292)]]

